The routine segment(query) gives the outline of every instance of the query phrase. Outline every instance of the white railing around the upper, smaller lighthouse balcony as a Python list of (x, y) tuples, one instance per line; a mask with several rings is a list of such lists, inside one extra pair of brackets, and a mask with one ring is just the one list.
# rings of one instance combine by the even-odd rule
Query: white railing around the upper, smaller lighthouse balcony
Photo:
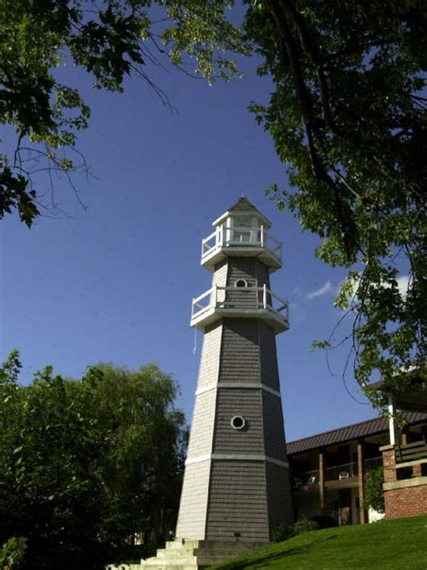
[(212, 234), (202, 240), (202, 262), (220, 247), (248, 245), (265, 248), (277, 257), (279, 262), (282, 259), (282, 243), (270, 234), (264, 225), (258, 227), (219, 225)]

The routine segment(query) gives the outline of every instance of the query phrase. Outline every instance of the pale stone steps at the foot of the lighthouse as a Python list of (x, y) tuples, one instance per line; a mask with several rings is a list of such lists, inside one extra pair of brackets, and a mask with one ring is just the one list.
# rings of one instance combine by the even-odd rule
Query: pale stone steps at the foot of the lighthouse
[(108, 565), (106, 570), (197, 570), (265, 546), (263, 542), (177, 538), (159, 548), (157, 556), (141, 560), (141, 564)]

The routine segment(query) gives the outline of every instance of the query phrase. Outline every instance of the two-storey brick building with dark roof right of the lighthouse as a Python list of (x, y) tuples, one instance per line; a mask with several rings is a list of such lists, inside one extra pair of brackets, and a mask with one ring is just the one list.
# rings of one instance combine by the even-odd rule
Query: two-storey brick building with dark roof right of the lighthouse
[[(295, 519), (328, 514), (340, 525), (377, 519), (376, 511), (363, 508), (364, 478), (383, 464), (386, 518), (427, 513), (427, 414), (404, 417), (398, 445), (390, 446), (389, 420), (383, 418), (289, 442)], [(413, 508), (410, 495), (416, 497)]]

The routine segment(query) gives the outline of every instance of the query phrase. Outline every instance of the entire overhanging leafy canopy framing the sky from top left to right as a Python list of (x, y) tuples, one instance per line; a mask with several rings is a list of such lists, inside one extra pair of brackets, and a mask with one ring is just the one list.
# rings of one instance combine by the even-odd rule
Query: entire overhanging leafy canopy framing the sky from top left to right
[(31, 225), (42, 195), (32, 171), (69, 177), (76, 166), (70, 152), (90, 111), (56, 78), (63, 60), (90, 72), (98, 88), (120, 91), (136, 73), (167, 103), (147, 72), (157, 57), (177, 67), (195, 58), (195, 71), (212, 82), (238, 75), (232, 57), (256, 51), (274, 88), (268, 105), (250, 109), (290, 181), (273, 184), (270, 196), (320, 237), (320, 259), (348, 271), (335, 305), (350, 328), (317, 345), (349, 341), (363, 387), (377, 372), (387, 389), (403, 390), (397, 372), (411, 368), (425, 387), (424, 3), (246, 0), (241, 26), (233, 4), (5, 0), (0, 121), (13, 125), (17, 142), (2, 159), (0, 217), (17, 208)]

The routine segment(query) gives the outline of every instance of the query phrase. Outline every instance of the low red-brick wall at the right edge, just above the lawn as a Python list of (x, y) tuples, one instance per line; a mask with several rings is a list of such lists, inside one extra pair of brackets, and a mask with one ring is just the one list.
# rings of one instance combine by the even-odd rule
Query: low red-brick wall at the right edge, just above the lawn
[(400, 519), (427, 513), (427, 484), (384, 493), (386, 519)]

